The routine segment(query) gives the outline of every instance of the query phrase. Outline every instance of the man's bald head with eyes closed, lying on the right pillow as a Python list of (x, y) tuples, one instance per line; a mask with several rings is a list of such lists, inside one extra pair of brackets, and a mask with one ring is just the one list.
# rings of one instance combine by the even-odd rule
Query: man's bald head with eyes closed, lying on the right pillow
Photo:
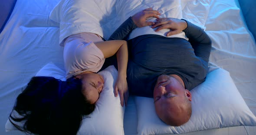
[(154, 105), (156, 113), (166, 124), (171, 125), (167, 122), (169, 119), (177, 123), (185, 121), (186, 100), (191, 101), (191, 94), (176, 77), (165, 74), (158, 77), (154, 87)]

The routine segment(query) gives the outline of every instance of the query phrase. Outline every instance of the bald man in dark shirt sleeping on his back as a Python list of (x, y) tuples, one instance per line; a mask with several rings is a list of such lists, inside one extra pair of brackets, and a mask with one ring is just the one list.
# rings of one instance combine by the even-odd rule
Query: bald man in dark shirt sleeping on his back
[[(130, 94), (154, 98), (156, 113), (162, 121), (180, 126), (191, 116), (189, 90), (207, 76), (211, 40), (203, 29), (187, 20), (155, 16), (155, 22), (146, 22), (149, 14), (143, 10), (131, 16), (109, 40), (124, 40), (132, 30), (149, 23), (148, 29), (156, 28), (156, 32), (170, 30), (165, 36), (145, 34), (128, 40), (127, 82)], [(188, 41), (169, 37), (181, 32)]]

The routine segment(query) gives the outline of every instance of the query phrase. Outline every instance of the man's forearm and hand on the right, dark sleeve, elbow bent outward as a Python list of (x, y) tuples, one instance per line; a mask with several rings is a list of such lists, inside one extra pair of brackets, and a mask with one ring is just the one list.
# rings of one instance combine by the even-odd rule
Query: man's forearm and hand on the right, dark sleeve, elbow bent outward
[(155, 31), (170, 29), (171, 31), (167, 33), (167, 36), (175, 35), (184, 31), (189, 38), (189, 42), (194, 48), (195, 55), (206, 62), (209, 61), (212, 42), (210, 37), (200, 27), (188, 22), (187, 20), (175, 18), (157, 19), (157, 22), (155, 22), (152, 28), (156, 27), (158, 28)]

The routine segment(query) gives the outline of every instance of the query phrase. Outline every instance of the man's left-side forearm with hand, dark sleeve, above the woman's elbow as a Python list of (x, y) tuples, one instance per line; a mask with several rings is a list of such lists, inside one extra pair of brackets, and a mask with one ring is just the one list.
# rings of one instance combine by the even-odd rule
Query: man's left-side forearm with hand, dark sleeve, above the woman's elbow
[(133, 29), (153, 25), (154, 22), (146, 22), (146, 19), (149, 17), (159, 18), (158, 15), (160, 15), (160, 13), (157, 10), (152, 10), (152, 8), (142, 10), (122, 23), (108, 40), (124, 40)]

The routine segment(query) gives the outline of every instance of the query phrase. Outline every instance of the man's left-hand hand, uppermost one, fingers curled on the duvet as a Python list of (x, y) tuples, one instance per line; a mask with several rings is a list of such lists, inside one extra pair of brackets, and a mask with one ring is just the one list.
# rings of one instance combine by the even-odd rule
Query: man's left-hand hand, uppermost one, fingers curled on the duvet
[(159, 13), (157, 10), (152, 10), (152, 8), (147, 8), (131, 16), (131, 19), (136, 24), (136, 26), (140, 28), (144, 26), (154, 25), (154, 22), (146, 22), (146, 19), (150, 17), (159, 18), (158, 15), (161, 15), (161, 13)]

